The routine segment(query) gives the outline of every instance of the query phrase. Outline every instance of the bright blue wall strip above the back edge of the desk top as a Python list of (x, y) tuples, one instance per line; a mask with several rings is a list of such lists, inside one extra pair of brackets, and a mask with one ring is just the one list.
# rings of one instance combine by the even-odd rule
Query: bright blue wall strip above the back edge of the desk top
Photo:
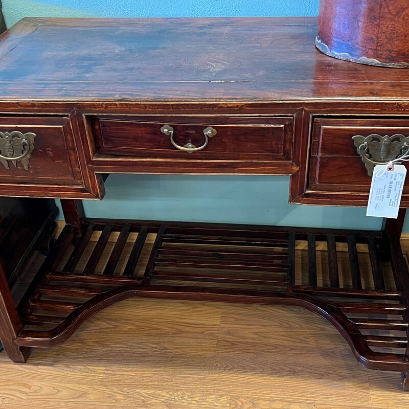
[(35, 16), (314, 16), (319, 0), (3, 0), (6, 22)]

